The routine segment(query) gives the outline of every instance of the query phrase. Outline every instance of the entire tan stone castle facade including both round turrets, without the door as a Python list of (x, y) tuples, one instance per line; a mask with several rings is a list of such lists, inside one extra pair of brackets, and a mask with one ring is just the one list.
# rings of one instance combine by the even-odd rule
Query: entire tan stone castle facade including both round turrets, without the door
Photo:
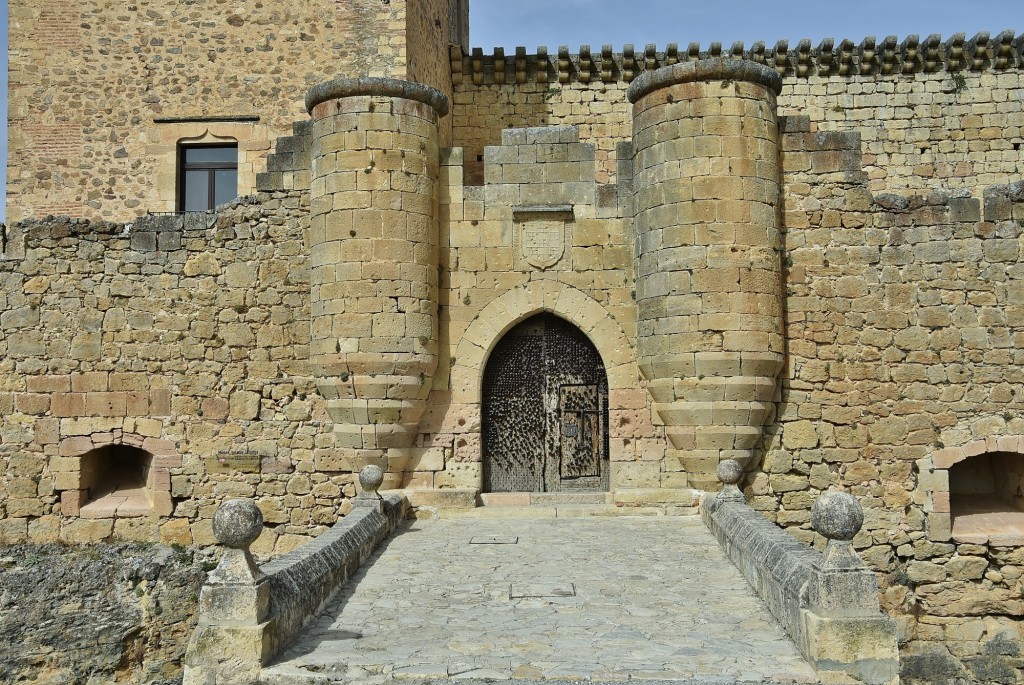
[[(1024, 484), (991, 461), (1024, 453), (1020, 37), (527, 69), (450, 52), (449, 2), (370, 4), (205, 22), (199, 6), (13, 3), (9, 216), (73, 216), (0, 240), (0, 541), (209, 545), (217, 506), (246, 496), (269, 554), (346, 513), (367, 463), (388, 465), (388, 486), (474, 490), (487, 352), (545, 310), (607, 363), (616, 487), (714, 489), (735, 459), (752, 504), (816, 542), (811, 503), (847, 489), (905, 637), (1005, 678), (1001, 655), (976, 652), (1014, 635), (999, 622), (1021, 613), (1024, 534), (965, 531), (956, 494), (986, 463), (1004, 499)], [(268, 38), (286, 24), (298, 33)], [(308, 69), (255, 69), (271, 62)], [(98, 73), (118, 88), (83, 92)], [(358, 126), (336, 108), (292, 128), (310, 83), (367, 75), (398, 81), (323, 91), (359, 100)], [(451, 114), (434, 122), (441, 99), (414, 82)], [(655, 89), (649, 114), (630, 82)], [(193, 105), (244, 121), (191, 120)], [(239, 140), (242, 195), (265, 168), (260, 191), (147, 215), (175, 209), (178, 144), (207, 134)], [(516, 208), (570, 209), (556, 264), (524, 258)], [(366, 373), (342, 380), (349, 362)], [(146, 516), (80, 517), (81, 457), (104, 445), (155, 458)], [(259, 468), (209, 461), (225, 451)]]

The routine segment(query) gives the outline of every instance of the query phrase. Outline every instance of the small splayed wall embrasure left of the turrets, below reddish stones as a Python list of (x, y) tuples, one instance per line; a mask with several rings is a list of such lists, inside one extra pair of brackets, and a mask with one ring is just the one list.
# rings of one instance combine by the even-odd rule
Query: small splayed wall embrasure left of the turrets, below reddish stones
[(88, 500), (84, 518), (145, 516), (153, 512), (153, 455), (125, 444), (110, 444), (82, 455), (82, 488)]

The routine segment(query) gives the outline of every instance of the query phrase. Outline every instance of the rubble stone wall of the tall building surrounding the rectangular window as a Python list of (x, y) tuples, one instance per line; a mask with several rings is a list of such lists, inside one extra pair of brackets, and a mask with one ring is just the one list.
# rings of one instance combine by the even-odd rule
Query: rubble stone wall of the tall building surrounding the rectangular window
[(328, 78), (451, 90), (449, 0), (237, 4), (11, 2), (8, 220), (173, 211), (177, 141), (206, 131), (239, 141), (252, 192)]

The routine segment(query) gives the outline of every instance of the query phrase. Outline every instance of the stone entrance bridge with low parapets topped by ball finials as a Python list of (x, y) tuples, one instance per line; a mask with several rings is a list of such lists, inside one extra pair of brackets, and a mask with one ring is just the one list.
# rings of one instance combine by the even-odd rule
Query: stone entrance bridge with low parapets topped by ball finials
[(819, 553), (746, 505), (738, 464), (719, 471), (699, 519), (556, 502), (407, 522), (367, 467), (351, 514), (262, 567), (259, 510), (228, 502), (184, 683), (898, 683), (856, 501), (819, 499)]

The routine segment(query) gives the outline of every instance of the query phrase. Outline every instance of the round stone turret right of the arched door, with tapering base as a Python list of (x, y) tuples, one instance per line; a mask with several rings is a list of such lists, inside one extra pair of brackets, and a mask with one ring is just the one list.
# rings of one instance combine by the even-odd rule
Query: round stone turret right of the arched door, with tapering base
[(649, 72), (633, 102), (638, 352), (692, 486), (749, 464), (782, 367), (775, 97), (752, 61)]

